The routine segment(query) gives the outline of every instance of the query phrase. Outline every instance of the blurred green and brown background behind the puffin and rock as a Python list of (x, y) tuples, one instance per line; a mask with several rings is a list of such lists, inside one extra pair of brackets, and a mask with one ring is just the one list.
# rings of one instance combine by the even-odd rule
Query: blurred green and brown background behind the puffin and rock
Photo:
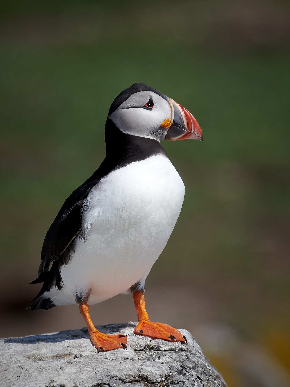
[[(74, 305), (25, 310), (27, 284), (105, 156), (111, 102), (143, 82), (204, 136), (162, 143), (186, 196), (146, 282), (149, 317), (191, 330), (229, 387), (271, 387), (245, 366), (257, 351), (289, 385), (289, 3), (1, 1), (0, 23), (0, 336), (84, 325)], [(92, 310), (95, 324), (136, 320), (128, 296)]]

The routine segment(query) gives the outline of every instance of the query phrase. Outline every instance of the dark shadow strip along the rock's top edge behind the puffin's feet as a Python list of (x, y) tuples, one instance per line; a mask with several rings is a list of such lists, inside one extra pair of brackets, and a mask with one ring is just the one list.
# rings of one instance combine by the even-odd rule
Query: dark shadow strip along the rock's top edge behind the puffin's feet
[[(116, 334), (124, 328), (135, 328), (133, 323), (97, 325), (96, 328), (104, 333)], [(9, 337), (4, 339), (5, 344), (38, 344), (39, 342), (61, 342), (65, 340), (89, 339), (87, 327), (61, 332), (45, 333), (25, 337)]]

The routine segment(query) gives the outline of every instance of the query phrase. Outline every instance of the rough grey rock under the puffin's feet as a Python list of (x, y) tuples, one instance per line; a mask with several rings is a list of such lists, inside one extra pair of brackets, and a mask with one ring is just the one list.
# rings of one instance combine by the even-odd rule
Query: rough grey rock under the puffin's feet
[(87, 328), (0, 340), (0, 384), (5, 387), (226, 387), (191, 334), (187, 344), (133, 334), (136, 324), (97, 326), (128, 334), (127, 348), (98, 353)]

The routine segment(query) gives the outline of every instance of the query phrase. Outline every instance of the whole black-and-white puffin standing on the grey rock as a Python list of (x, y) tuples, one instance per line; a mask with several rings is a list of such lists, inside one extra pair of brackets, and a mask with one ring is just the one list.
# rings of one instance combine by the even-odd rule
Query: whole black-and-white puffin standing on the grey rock
[(177, 329), (149, 320), (143, 293), (184, 199), (183, 181), (160, 142), (188, 139), (203, 139), (194, 116), (153, 87), (135, 83), (114, 99), (106, 157), (49, 227), (38, 277), (30, 283), (43, 286), (27, 309), (77, 304), (98, 351), (127, 349), (126, 335), (96, 329), (89, 305), (131, 293), (135, 334), (186, 343)]

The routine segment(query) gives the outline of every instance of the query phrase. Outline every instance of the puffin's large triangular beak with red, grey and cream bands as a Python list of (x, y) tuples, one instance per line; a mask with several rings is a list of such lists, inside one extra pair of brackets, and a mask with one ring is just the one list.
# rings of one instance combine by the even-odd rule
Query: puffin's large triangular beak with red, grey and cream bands
[(202, 132), (200, 125), (183, 106), (169, 99), (171, 105), (171, 126), (165, 135), (165, 140), (201, 140)]

